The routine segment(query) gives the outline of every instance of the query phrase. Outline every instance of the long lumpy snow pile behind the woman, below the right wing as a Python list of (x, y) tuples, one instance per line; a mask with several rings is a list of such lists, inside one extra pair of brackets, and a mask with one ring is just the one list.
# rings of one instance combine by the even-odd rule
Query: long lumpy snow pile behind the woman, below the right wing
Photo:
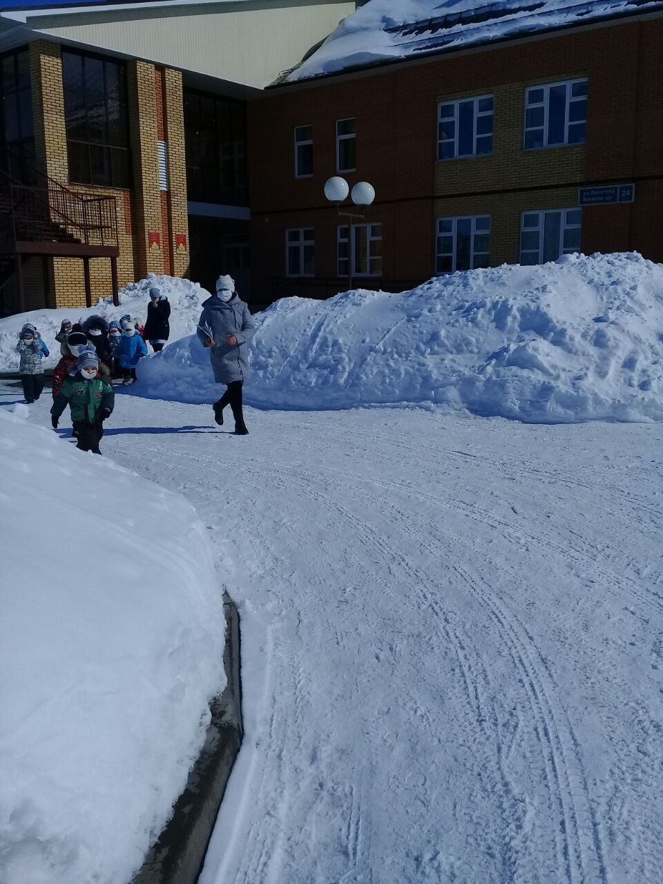
[[(663, 419), (663, 265), (640, 255), (286, 298), (260, 318), (246, 390), (258, 408), (408, 402), (530, 422)], [(222, 389), (195, 337), (140, 378), (159, 399), (211, 402)]]

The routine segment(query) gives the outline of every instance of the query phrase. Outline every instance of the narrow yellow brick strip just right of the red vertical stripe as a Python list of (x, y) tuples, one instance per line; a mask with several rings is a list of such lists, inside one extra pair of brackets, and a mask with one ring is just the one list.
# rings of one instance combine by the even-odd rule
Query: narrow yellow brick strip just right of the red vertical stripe
[[(165, 70), (164, 128), (168, 143), (168, 201), (171, 216), (171, 246), (173, 273), (187, 276), (189, 271), (189, 225), (187, 210), (187, 165), (184, 139), (184, 96), (182, 74), (171, 68)], [(178, 255), (177, 234), (187, 238), (187, 252)]]

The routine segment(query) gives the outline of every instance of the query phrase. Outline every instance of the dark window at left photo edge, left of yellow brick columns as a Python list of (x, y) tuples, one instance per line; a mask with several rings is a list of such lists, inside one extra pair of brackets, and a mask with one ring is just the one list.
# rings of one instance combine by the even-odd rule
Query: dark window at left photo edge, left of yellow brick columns
[(0, 166), (24, 184), (34, 165), (32, 90), (27, 50), (0, 57)]

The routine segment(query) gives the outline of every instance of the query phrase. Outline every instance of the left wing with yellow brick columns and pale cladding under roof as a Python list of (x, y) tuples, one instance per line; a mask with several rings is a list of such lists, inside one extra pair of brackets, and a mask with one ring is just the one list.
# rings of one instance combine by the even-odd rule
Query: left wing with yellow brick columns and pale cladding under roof
[[(0, 9), (2, 4), (0, 4)], [(247, 103), (354, 0), (0, 12), (0, 316), (147, 273), (250, 290)]]

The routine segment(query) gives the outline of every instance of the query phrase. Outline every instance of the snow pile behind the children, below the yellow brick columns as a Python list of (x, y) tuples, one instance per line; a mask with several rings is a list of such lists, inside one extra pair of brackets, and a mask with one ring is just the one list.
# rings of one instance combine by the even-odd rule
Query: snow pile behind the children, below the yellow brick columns
[(112, 299), (98, 301), (92, 308), (62, 308), (57, 310), (30, 310), (0, 319), (0, 373), (17, 371), (19, 355), (16, 353), (19, 331), (26, 323), (32, 323), (42, 332), (42, 339), (50, 349), (50, 357), (44, 360), (45, 367), (52, 367), (60, 358), (60, 345), (55, 336), (63, 319), (72, 323), (80, 318), (95, 314), (105, 316), (109, 321), (119, 319), (130, 313), (134, 319), (145, 322), (148, 315), (150, 286), (158, 286), (171, 302), (171, 340), (177, 340), (195, 331), (201, 315), (202, 301), (210, 297), (210, 293), (201, 288), (197, 282), (177, 277), (158, 276), (150, 273), (148, 278), (140, 282), (129, 283), (119, 292), (119, 307), (113, 307)]

